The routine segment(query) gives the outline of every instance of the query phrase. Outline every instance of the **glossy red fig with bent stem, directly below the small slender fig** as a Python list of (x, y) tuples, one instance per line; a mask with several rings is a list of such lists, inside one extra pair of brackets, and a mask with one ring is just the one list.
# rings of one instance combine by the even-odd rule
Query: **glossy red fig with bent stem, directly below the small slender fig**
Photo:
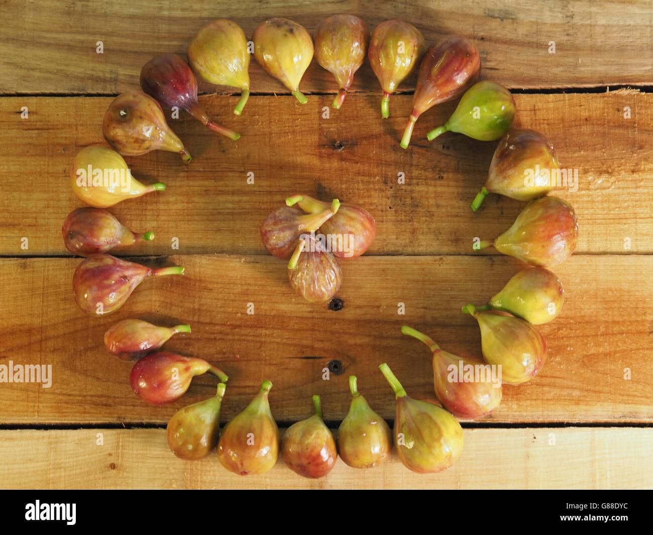
[(182, 397), (193, 377), (211, 372), (222, 383), (229, 379), (225, 372), (203, 359), (183, 357), (160, 351), (151, 353), (131, 368), (131, 389), (151, 405), (172, 403)]

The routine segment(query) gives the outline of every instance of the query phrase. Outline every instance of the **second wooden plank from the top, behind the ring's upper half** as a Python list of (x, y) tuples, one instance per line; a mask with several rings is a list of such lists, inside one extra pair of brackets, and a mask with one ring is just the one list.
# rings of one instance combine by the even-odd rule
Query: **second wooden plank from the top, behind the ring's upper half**
[[(560, 193), (580, 221), (579, 253), (653, 253), (653, 95), (515, 95), (518, 123), (543, 131), (565, 167), (579, 172), (578, 191)], [(143, 182), (163, 180), (164, 193), (125, 201), (112, 210), (135, 230), (153, 229), (154, 242), (131, 254), (265, 253), (259, 225), (292, 193), (340, 197), (366, 206), (377, 220), (371, 254), (461, 254), (474, 236), (509, 227), (524, 203), (490, 196), (473, 214), (470, 203), (485, 182), (496, 143), (447, 134), (433, 143), (426, 131), (444, 122), (453, 104), (426, 112), (409, 150), (399, 146), (411, 97), (398, 95), (381, 122), (376, 96), (347, 101), (323, 119), (329, 97), (306, 106), (293, 97), (252, 97), (248, 113), (228, 119), (242, 138), (233, 143), (185, 118), (172, 121), (195, 159), (184, 169), (176, 154), (128, 159)], [(3, 137), (1, 255), (61, 255), (61, 223), (80, 201), (68, 182), (79, 148), (102, 140), (110, 99), (0, 99)], [(236, 97), (204, 97), (225, 118)], [(21, 106), (29, 119), (20, 118)], [(624, 119), (628, 106), (631, 118)], [(355, 119), (355, 120), (353, 120)], [(247, 184), (253, 172), (254, 184)], [(398, 184), (400, 172), (406, 184)], [(29, 248), (21, 248), (21, 238)], [(629, 246), (629, 249), (626, 248)]]

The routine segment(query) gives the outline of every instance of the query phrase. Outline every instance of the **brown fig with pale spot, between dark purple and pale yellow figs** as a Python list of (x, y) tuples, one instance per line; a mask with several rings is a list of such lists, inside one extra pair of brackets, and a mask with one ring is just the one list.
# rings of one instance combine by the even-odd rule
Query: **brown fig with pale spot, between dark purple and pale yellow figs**
[(104, 139), (126, 156), (167, 150), (182, 155), (183, 163), (192, 159), (168, 126), (159, 103), (145, 93), (127, 91), (113, 99), (104, 114), (102, 131)]

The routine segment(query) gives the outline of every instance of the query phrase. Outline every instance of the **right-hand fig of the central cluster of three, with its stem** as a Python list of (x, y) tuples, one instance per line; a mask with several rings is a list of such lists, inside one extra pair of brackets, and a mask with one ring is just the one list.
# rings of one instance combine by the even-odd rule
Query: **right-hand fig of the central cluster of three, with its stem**
[[(319, 214), (328, 208), (327, 203), (308, 195), (288, 197), (286, 204), (296, 204), (307, 214)], [(376, 235), (376, 223), (364, 208), (342, 203), (338, 212), (320, 225), (320, 232), (327, 239), (328, 251), (338, 258), (352, 258), (368, 250)]]

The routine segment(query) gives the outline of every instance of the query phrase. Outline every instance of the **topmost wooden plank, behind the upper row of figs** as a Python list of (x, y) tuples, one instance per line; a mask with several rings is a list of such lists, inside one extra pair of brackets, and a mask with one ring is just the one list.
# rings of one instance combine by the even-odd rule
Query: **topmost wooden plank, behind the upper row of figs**
[[(411, 22), (428, 43), (460, 33), (479, 48), (486, 77), (509, 87), (562, 88), (614, 84), (651, 84), (653, 11), (643, 2), (526, 0), (518, 7), (500, 0), (484, 2), (417, 0), (409, 3), (335, 0), (311, 3), (281, 0), (177, 3), (39, 2), (3, 3), (0, 33), (2, 93), (119, 93), (138, 84), (142, 65), (155, 54), (185, 53), (202, 25), (232, 18), (250, 36), (274, 16), (293, 18), (313, 33), (334, 13), (358, 14), (374, 28), (391, 18)], [(156, 21), (156, 22), (154, 22)], [(98, 41), (104, 53), (97, 54)], [(550, 42), (556, 43), (550, 53)], [(606, 46), (609, 41), (609, 46)], [(250, 67), (253, 91), (287, 92)], [(368, 63), (355, 89), (378, 91)], [(406, 84), (404, 89), (410, 89)], [(313, 61), (302, 82), (305, 91), (335, 91), (334, 81)]]

